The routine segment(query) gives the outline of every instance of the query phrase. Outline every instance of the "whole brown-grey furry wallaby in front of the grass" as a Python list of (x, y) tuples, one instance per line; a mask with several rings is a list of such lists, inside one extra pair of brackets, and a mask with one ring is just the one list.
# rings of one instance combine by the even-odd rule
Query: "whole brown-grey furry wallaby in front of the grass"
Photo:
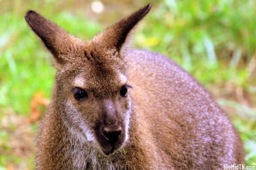
[(191, 75), (163, 55), (128, 49), (150, 8), (88, 42), (26, 13), (57, 70), (37, 138), (37, 169), (217, 170), (244, 164), (231, 121)]

